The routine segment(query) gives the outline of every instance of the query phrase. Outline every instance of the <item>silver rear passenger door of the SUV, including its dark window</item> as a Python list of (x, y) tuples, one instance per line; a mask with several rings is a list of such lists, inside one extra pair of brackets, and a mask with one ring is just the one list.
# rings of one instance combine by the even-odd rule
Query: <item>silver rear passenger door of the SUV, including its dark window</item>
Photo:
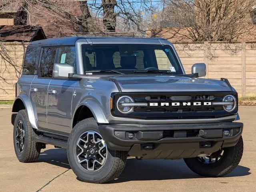
[(30, 100), (34, 102), (38, 117), (38, 129), (47, 129), (47, 90), (52, 80), (56, 47), (44, 47), (41, 50), (40, 67), (30, 86)]

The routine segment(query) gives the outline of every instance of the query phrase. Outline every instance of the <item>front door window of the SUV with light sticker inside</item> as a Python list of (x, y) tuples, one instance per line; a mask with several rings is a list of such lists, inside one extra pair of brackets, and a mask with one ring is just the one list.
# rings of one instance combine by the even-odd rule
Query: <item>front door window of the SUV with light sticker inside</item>
[(58, 63), (66, 63), (73, 66), (76, 73), (76, 48), (60, 47)]

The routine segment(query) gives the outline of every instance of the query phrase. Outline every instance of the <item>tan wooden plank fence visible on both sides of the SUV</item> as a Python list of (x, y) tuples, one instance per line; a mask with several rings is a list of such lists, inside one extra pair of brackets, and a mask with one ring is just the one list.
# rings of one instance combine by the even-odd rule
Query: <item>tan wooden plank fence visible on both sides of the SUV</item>
[[(5, 43), (10, 57), (21, 70), (27, 43)], [(206, 78), (228, 78), (239, 97), (256, 96), (256, 43), (175, 43), (186, 73), (194, 63), (206, 63)], [(2, 52), (1, 52), (2, 54)], [(19, 72), (0, 57), (0, 100), (14, 100)]]

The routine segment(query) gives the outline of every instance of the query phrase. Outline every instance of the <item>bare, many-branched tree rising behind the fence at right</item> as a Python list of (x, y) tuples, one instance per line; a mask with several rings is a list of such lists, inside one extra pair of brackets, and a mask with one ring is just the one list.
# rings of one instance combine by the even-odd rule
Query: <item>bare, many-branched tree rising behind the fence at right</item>
[(189, 41), (237, 41), (252, 34), (255, 0), (164, 0), (160, 22)]

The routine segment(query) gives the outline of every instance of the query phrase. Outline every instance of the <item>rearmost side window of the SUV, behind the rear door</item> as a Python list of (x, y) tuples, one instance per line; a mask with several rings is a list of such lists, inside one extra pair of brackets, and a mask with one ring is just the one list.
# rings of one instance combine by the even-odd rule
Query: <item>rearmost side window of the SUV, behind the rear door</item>
[(40, 47), (27, 48), (22, 74), (36, 74), (37, 63), (40, 55)]

